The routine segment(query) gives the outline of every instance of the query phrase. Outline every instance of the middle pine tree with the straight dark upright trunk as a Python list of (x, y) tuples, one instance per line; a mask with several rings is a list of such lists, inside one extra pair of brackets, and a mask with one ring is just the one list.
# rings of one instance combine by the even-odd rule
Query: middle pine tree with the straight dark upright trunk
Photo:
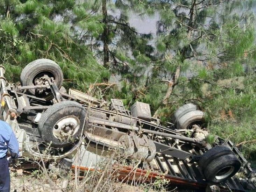
[[(138, 33), (129, 23), (129, 15), (141, 13), (143, 7), (137, 0), (95, 0), (81, 1), (74, 9), (82, 29), (81, 41), (90, 42), (98, 60), (111, 73), (127, 77), (130, 68), (138, 67), (141, 58), (148, 58), (153, 50), (147, 44), (151, 35)], [(98, 17), (98, 22), (85, 24), (91, 16)], [(100, 29), (96, 35), (91, 33), (94, 28)]]

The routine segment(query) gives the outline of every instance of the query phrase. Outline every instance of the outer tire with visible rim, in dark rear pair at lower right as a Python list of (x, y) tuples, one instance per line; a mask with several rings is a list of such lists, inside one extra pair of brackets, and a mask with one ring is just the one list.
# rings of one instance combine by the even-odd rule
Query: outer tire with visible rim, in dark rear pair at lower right
[(233, 177), (240, 167), (241, 163), (235, 155), (222, 155), (206, 166), (204, 175), (208, 182), (220, 183)]

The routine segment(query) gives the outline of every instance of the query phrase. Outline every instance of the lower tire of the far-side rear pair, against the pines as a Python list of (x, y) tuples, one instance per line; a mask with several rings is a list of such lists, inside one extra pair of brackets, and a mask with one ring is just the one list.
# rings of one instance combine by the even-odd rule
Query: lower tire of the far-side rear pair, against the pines
[(190, 129), (194, 124), (203, 125), (204, 120), (204, 112), (202, 111), (191, 111), (183, 115), (177, 122), (177, 129)]

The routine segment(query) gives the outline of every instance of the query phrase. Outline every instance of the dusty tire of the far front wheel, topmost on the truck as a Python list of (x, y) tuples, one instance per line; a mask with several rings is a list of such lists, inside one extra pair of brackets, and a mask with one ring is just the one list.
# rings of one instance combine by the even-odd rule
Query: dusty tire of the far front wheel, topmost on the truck
[[(50, 77), (54, 77), (57, 87), (61, 87), (63, 72), (61, 67), (50, 59), (37, 59), (24, 67), (20, 75), (22, 86), (35, 85), (37, 76), (43, 76), (44, 73)], [(28, 91), (35, 95), (34, 89)]]

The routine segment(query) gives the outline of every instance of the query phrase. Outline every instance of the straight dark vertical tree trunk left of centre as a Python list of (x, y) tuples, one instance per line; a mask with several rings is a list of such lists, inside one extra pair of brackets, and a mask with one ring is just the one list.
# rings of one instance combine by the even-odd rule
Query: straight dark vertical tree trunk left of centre
[(103, 15), (103, 22), (105, 23), (105, 27), (102, 34), (103, 54), (104, 54), (103, 65), (104, 67), (108, 68), (108, 63), (109, 63), (108, 51), (109, 50), (108, 50), (107, 0), (102, 0), (102, 15)]

